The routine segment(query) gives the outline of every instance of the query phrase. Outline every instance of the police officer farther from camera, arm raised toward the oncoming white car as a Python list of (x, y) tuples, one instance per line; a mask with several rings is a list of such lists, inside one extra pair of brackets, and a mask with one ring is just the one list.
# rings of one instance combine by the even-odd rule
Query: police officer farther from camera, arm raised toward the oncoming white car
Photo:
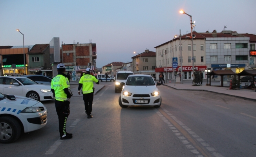
[(92, 118), (91, 111), (94, 93), (93, 82), (99, 84), (99, 80), (97, 80), (94, 76), (90, 75), (90, 68), (87, 68), (85, 71), (86, 73), (82, 75), (79, 80), (78, 94), (80, 95), (80, 89), (82, 88), (85, 113), (87, 114), (87, 118)]

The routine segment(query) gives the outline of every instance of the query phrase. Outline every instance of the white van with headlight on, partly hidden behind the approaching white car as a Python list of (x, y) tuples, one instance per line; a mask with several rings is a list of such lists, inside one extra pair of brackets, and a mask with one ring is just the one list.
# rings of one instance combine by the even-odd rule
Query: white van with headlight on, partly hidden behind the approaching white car
[(117, 76), (115, 77), (115, 93), (121, 92), (123, 85), (120, 85), (121, 82), (126, 81), (129, 75), (132, 75), (132, 71), (118, 71)]

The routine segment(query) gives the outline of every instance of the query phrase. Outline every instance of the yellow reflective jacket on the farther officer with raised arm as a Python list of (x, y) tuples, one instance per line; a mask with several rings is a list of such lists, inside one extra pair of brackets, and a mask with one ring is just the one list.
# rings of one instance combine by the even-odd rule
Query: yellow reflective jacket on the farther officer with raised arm
[(82, 91), (83, 94), (88, 94), (93, 92), (93, 82), (99, 82), (94, 76), (90, 74), (83, 75), (80, 80), (79, 84), (82, 84)]

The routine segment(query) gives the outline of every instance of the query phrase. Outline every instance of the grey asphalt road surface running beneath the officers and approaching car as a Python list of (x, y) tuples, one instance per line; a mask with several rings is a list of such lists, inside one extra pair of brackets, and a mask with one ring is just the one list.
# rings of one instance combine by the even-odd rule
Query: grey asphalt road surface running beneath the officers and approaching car
[[(22, 135), (12, 144), (0, 144), (5, 157), (255, 157), (256, 105), (254, 101), (206, 91), (178, 91), (158, 86), (160, 108), (118, 104), (114, 82), (94, 96), (93, 118), (87, 119), (82, 97), (71, 98), (67, 132), (59, 140), (54, 101), (48, 124)], [(97, 84), (95, 85), (97, 86)], [(77, 86), (71, 85), (77, 92)]]

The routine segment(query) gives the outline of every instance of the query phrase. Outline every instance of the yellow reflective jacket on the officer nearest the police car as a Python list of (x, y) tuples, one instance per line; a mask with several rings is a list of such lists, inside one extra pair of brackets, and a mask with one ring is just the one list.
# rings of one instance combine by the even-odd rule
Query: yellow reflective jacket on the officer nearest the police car
[(51, 89), (55, 91), (55, 99), (59, 101), (68, 100), (67, 94), (63, 89), (70, 88), (68, 78), (63, 75), (57, 75), (51, 80)]

